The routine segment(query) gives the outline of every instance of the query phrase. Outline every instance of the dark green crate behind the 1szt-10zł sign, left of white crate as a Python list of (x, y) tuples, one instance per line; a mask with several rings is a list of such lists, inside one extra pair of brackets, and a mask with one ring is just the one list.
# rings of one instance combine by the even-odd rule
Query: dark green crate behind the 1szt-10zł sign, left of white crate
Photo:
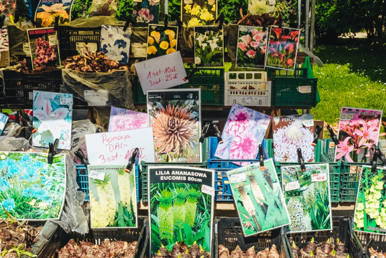
[[(186, 69), (187, 74), (191, 69)], [(194, 73), (187, 84), (171, 89), (201, 89), (202, 105), (224, 105), (224, 68), (201, 68)], [(138, 76), (133, 81), (134, 104), (146, 104)]]

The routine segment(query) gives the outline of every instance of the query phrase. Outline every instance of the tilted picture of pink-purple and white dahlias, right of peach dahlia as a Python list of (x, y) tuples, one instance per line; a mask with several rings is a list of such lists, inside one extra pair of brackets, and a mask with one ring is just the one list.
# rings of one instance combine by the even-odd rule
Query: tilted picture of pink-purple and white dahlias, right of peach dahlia
[(258, 155), (271, 117), (234, 103), (222, 131), (215, 157), (231, 160), (253, 160)]

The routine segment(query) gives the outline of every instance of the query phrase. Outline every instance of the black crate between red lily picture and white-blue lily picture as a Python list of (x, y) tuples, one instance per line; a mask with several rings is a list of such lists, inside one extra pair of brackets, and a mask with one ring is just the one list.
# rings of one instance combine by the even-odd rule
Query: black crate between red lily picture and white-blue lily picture
[(76, 42), (97, 44), (99, 50), (100, 29), (101, 27), (58, 26), (60, 59), (64, 60), (70, 56), (78, 55)]

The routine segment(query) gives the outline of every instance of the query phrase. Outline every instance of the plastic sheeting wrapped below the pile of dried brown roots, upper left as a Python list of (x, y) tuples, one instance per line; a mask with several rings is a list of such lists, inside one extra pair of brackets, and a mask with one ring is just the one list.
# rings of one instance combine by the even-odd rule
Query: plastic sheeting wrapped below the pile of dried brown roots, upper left
[(130, 72), (77, 72), (62, 70), (61, 92), (72, 93), (74, 98), (91, 106), (115, 106), (133, 109), (133, 91)]

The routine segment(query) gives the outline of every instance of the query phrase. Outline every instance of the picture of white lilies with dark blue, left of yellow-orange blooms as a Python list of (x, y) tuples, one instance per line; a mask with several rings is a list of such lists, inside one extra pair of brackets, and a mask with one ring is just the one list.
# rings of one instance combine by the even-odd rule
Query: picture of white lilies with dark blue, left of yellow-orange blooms
[(122, 26), (102, 25), (100, 30), (100, 51), (121, 64), (128, 63), (130, 53), (131, 28), (124, 31)]

